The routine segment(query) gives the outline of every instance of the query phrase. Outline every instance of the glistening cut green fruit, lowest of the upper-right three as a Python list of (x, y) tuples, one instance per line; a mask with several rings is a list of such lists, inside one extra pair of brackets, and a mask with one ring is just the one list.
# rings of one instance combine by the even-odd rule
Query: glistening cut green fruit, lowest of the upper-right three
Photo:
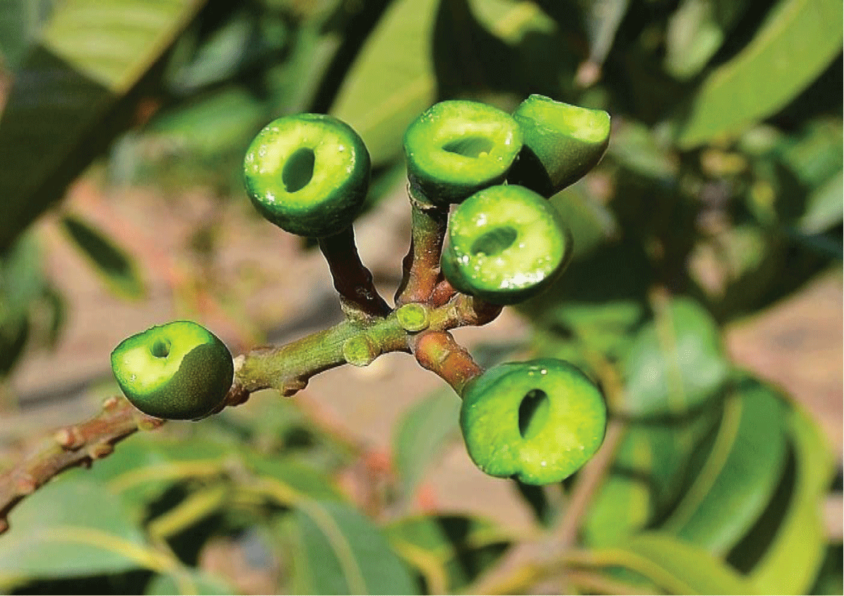
[(495, 304), (520, 303), (560, 275), (571, 234), (542, 196), (523, 186), (490, 186), (452, 213), (441, 269), (457, 290)]

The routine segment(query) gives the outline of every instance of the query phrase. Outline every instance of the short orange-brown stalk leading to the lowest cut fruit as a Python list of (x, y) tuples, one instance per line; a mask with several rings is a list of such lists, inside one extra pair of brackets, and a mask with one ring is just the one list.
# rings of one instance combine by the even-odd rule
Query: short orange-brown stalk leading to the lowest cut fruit
[(463, 396), (466, 384), (484, 373), (469, 352), (448, 331), (429, 331), (414, 338), (414, 356), (422, 368), (436, 373)]

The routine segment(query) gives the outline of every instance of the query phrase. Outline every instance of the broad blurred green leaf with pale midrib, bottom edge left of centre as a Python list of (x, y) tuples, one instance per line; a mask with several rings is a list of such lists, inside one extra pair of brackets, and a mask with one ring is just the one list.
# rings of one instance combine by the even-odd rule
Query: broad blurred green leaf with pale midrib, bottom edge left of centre
[(418, 593), (385, 535), (349, 505), (300, 502), (279, 529), (295, 593)]

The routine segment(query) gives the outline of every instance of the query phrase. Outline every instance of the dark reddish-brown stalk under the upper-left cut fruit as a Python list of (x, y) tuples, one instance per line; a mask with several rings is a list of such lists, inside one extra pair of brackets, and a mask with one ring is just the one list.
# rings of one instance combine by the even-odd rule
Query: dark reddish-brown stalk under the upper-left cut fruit
[(340, 234), (319, 239), (319, 248), (328, 262), (334, 289), (346, 314), (386, 317), (390, 307), (376, 290), (372, 273), (358, 255), (354, 231), (349, 226)]

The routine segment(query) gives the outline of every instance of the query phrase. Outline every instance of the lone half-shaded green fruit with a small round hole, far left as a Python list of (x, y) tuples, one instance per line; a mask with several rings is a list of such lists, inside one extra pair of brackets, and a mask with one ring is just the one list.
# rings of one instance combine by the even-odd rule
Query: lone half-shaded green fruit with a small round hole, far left
[(231, 353), (192, 321), (173, 321), (128, 337), (111, 352), (111, 371), (127, 399), (149, 416), (192, 420), (223, 403), (234, 379)]

